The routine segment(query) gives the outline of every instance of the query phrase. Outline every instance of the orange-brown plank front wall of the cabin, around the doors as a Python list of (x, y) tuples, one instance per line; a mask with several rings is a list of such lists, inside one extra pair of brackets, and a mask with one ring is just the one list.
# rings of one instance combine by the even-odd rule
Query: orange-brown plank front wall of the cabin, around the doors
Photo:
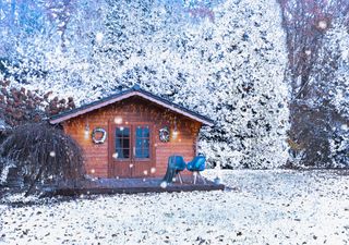
[[(110, 142), (115, 140), (110, 138), (113, 137), (112, 132), (109, 132), (110, 126), (112, 124), (133, 125), (140, 123), (148, 123), (152, 127), (152, 163), (143, 174), (144, 177), (164, 176), (168, 157), (171, 155), (183, 156), (185, 162), (192, 160), (196, 155), (196, 138), (202, 124), (140, 97), (131, 97), (79, 115), (63, 122), (62, 125), (64, 132), (82, 147), (87, 174), (99, 177), (118, 177), (113, 174), (110, 162)], [(176, 138), (172, 134), (174, 125), (178, 132)], [(159, 139), (159, 130), (164, 126), (168, 126), (171, 132), (168, 143)], [(92, 131), (95, 127), (108, 131), (104, 144), (93, 143)], [(141, 173), (137, 174), (140, 176)], [(185, 171), (184, 174), (189, 174), (189, 172)]]

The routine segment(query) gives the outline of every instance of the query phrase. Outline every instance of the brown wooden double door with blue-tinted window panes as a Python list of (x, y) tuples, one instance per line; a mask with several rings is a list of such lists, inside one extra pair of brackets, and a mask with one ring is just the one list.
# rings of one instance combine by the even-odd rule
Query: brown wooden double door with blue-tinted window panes
[(151, 124), (109, 127), (109, 175), (144, 177), (151, 175), (153, 144)]

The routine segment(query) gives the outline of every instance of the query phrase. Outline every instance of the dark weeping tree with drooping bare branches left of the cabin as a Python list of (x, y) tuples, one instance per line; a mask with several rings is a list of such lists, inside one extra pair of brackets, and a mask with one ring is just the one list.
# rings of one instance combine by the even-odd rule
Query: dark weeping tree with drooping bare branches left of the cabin
[[(25, 124), (13, 133), (0, 147), (0, 156), (12, 162), (29, 187), (36, 183), (80, 180), (84, 175), (80, 146), (61, 130), (45, 123)], [(2, 170), (7, 169), (3, 163)]]

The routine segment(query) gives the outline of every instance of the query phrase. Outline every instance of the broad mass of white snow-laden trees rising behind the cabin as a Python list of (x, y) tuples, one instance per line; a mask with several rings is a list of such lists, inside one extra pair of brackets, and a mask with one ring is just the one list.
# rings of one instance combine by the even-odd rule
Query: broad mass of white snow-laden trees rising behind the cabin
[(285, 164), (287, 53), (276, 1), (64, 2), (45, 5), (58, 24), (17, 45), (10, 74), (76, 102), (140, 84), (216, 120), (201, 134), (210, 163)]

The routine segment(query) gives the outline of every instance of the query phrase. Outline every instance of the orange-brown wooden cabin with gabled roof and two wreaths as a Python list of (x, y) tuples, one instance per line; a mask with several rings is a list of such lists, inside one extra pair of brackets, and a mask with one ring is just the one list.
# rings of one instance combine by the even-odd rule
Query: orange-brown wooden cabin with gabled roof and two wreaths
[[(196, 156), (208, 118), (134, 86), (50, 118), (84, 152), (87, 174), (98, 177), (164, 176), (168, 157)], [(185, 173), (184, 173), (185, 174)]]

